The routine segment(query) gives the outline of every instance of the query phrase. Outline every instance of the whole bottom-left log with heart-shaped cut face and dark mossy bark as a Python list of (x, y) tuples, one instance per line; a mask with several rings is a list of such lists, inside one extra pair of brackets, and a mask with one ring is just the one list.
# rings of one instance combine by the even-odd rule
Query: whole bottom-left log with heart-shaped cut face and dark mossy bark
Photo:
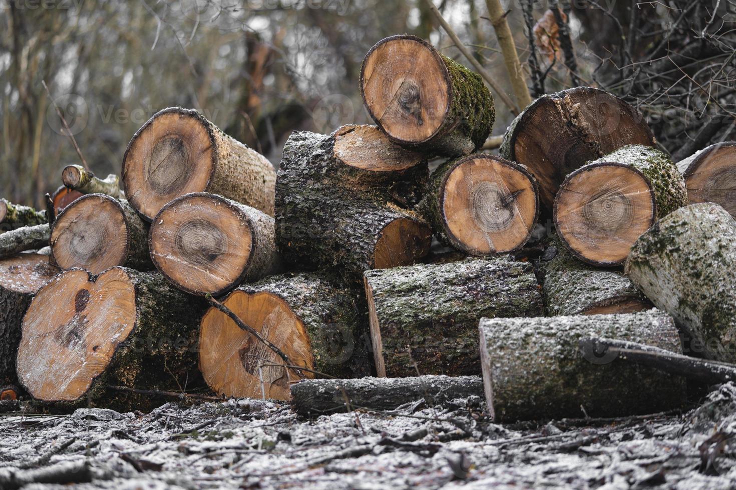
[(159, 273), (81, 269), (39, 289), (23, 320), (18, 379), (33, 397), (146, 410), (162, 400), (107, 386), (180, 391), (202, 386), (197, 328), (205, 309)]

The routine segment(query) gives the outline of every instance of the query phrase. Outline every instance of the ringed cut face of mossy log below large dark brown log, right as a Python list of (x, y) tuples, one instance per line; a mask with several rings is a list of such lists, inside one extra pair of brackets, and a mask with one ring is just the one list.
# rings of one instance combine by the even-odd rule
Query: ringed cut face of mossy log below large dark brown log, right
[(629, 165), (597, 162), (567, 176), (554, 201), (562, 242), (594, 265), (623, 264), (631, 245), (657, 220), (654, 190)]

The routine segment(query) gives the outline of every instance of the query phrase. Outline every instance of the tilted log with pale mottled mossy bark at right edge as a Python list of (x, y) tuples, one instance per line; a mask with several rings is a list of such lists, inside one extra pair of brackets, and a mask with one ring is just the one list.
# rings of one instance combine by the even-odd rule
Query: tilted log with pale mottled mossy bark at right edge
[(698, 203), (659, 220), (631, 248), (626, 273), (667, 311), (699, 356), (736, 362), (736, 221)]

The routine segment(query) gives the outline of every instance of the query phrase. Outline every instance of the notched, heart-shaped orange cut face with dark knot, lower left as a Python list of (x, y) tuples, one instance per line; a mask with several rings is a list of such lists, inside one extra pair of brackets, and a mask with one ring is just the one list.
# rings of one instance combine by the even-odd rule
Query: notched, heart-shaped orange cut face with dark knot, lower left
[(38, 400), (79, 400), (136, 320), (135, 287), (123, 268), (97, 278), (80, 269), (61, 273), (38, 291), (26, 312), (18, 379)]

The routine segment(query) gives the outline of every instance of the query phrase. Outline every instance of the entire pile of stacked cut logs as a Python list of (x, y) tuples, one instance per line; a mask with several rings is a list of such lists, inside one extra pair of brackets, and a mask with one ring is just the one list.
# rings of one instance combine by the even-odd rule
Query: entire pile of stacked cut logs
[[(508, 421), (679, 406), (680, 334), (736, 361), (731, 145), (675, 165), (634, 108), (576, 87), (479, 152), (483, 79), (413, 36), (368, 52), (360, 90), (375, 126), (295, 132), (278, 172), (169, 108), (120, 178), (68, 165), (46, 212), (0, 201), (0, 383), (66, 406), (209, 388), (319, 414), (467, 396), (482, 374)], [(726, 210), (687, 206), (704, 200)]]

